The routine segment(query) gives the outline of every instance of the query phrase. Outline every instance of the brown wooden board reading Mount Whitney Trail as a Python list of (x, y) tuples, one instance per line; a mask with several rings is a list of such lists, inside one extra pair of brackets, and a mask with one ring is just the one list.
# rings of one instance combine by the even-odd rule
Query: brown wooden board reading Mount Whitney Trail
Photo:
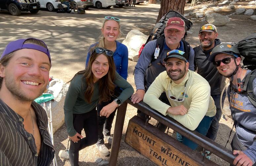
[(217, 166), (137, 116), (129, 121), (125, 142), (159, 166)]

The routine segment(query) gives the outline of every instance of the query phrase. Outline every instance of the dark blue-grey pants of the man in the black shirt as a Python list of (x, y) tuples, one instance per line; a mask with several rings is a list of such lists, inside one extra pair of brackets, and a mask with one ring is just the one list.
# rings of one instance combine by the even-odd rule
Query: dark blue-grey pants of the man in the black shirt
[[(224, 100), (226, 98), (226, 91), (223, 93), (223, 96), (222, 96), (222, 108), (224, 106)], [(214, 119), (211, 123), (211, 126), (206, 134), (206, 137), (215, 141), (216, 137), (217, 137), (217, 133), (218, 133), (218, 130), (219, 130), (219, 121), (220, 121), (220, 118), (221, 118), (221, 109), (220, 109), (220, 94), (219, 95), (211, 95), (211, 97), (213, 98), (214, 100), (214, 103), (215, 103), (215, 106), (216, 106), (216, 115), (214, 116)]]

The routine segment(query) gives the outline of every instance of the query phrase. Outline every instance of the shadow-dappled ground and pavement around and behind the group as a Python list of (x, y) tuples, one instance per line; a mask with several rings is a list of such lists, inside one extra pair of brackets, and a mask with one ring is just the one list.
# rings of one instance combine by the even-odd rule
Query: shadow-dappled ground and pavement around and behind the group
[[(218, 5), (217, 2), (205, 2), (200, 5), (195, 5), (193, 8), (189, 8), (189, 4), (186, 4), (185, 13), (189, 13), (195, 9), (200, 9), (202, 6), (207, 5), (210, 7), (224, 6)], [(255, 9), (256, 6), (245, 6), (249, 1), (239, 1), (235, 6), (238, 9), (238, 5), (242, 5), (245, 8)], [(125, 36), (131, 29), (139, 29), (143, 33), (148, 34), (153, 28), (155, 20), (158, 16), (160, 4), (139, 4), (135, 8), (123, 7), (123, 9), (111, 8), (109, 10), (103, 9), (89, 9), (87, 14), (56, 14), (47, 11), (40, 11), (36, 15), (23, 13), (18, 17), (11, 16), (7, 12), (0, 12), (0, 52), (8, 42), (19, 39), (21, 37), (36, 37), (44, 40), (48, 44), (51, 50), (53, 67), (51, 69), (51, 75), (54, 78), (61, 78), (64, 82), (69, 81), (73, 75), (84, 68), (85, 54), (88, 46), (91, 43), (97, 41), (99, 34), (99, 28), (102, 24), (102, 18), (105, 15), (115, 15), (122, 20), (122, 29), (124, 36), (119, 40), (123, 41)], [(224, 10), (218, 13), (231, 14), (234, 10)], [(188, 16), (189, 19), (195, 16)], [(223, 42), (236, 42), (249, 34), (256, 32), (256, 21), (250, 20), (249, 16), (240, 14), (232, 15), (229, 17), (231, 21), (225, 26), (217, 26), (219, 32), (219, 39)], [(38, 21), (40, 20), (40, 21)], [(206, 21), (200, 19), (193, 19), (193, 34), (189, 34), (186, 38), (192, 47), (197, 46), (199, 43), (198, 30)], [(95, 28), (97, 27), (97, 28)], [(129, 61), (128, 65), (128, 82), (131, 83), (133, 88), (134, 78), (132, 72), (136, 62)], [(225, 102), (225, 111), (229, 112), (228, 104)], [(129, 147), (125, 142), (125, 133), (127, 130), (128, 121), (136, 115), (136, 109), (128, 104), (125, 124), (123, 128), (122, 141), (118, 156), (118, 166), (153, 166), (154, 164), (147, 158), (136, 152)], [(152, 120), (150, 123), (154, 124), (156, 121)], [(225, 146), (229, 132), (232, 128), (232, 119), (228, 118), (228, 121), (224, 119), (220, 120), (220, 128), (217, 135), (216, 142), (221, 146)], [(113, 129), (115, 126), (115, 120), (113, 122)], [(111, 132), (113, 134), (113, 130)], [(231, 138), (235, 131), (232, 131)], [(83, 133), (83, 136), (84, 133)], [(62, 125), (55, 134), (55, 154), (57, 157), (58, 166), (67, 165), (58, 157), (59, 150), (67, 148), (68, 139), (65, 125)], [(106, 144), (108, 148), (110, 145)], [(227, 149), (231, 150), (230, 144), (227, 145)], [(80, 166), (95, 166), (95, 159), (100, 157), (95, 145), (87, 147), (80, 151)], [(108, 160), (109, 157), (104, 157)], [(229, 164), (223, 159), (212, 155), (211, 160), (221, 166), (228, 166)]]

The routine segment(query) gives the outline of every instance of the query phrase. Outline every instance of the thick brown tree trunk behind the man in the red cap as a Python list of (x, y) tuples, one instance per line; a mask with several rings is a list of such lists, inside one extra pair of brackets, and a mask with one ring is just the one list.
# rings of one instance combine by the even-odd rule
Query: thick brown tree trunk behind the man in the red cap
[(174, 10), (180, 14), (184, 14), (185, 0), (161, 0), (161, 6), (157, 17), (157, 22), (167, 13), (169, 10)]

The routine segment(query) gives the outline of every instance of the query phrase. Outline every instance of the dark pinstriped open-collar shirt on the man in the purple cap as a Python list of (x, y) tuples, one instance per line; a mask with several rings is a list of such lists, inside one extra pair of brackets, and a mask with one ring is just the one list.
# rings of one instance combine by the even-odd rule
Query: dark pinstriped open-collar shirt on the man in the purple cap
[(0, 99), (0, 165), (47, 166), (54, 158), (54, 147), (47, 131), (45, 110), (32, 102), (41, 134), (41, 148), (37, 154), (35, 139), (24, 129), (24, 119)]

